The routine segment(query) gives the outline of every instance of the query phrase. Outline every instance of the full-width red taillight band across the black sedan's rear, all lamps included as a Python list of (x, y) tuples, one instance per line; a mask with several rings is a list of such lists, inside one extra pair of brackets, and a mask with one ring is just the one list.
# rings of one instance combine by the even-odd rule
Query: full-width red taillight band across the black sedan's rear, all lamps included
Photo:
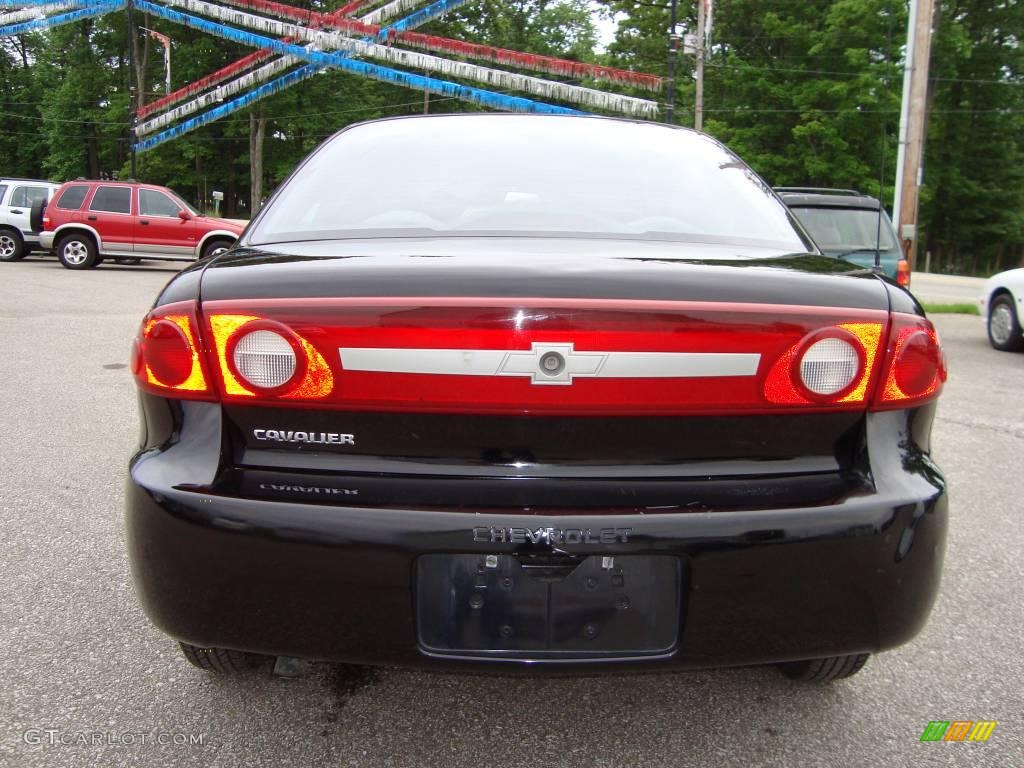
[[(538, 415), (912, 408), (946, 378), (935, 331), (916, 315), (501, 301), (216, 301), (203, 313), (179, 302), (146, 317), (132, 372), (143, 389), (176, 397)], [(541, 370), (549, 356), (568, 374)]]

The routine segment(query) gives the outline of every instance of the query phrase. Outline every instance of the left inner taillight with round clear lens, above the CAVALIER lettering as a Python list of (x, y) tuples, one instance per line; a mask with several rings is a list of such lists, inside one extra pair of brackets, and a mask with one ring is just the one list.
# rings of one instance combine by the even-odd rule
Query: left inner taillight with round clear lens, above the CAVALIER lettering
[(225, 395), (319, 399), (334, 390), (324, 356), (284, 324), (252, 314), (211, 314), (209, 324)]

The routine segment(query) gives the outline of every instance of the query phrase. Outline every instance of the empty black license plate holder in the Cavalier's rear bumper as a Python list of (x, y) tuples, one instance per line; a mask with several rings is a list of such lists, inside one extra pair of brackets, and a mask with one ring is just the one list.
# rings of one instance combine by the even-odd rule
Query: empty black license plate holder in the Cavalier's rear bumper
[(647, 657), (678, 641), (678, 557), (430, 554), (417, 560), (416, 585), (419, 642), (431, 655)]

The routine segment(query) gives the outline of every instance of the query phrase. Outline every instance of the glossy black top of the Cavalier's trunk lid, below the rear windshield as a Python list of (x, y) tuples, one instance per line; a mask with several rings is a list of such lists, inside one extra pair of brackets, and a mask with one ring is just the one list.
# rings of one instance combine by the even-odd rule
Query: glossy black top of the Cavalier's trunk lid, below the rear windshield
[[(180, 292), (175, 295), (185, 298)], [(821, 255), (696, 243), (438, 238), (352, 241), (327, 248), (288, 244), (281, 253), (237, 249), (212, 261), (203, 274), (204, 301), (335, 296), (663, 299), (889, 308), (885, 289), (868, 269)]]

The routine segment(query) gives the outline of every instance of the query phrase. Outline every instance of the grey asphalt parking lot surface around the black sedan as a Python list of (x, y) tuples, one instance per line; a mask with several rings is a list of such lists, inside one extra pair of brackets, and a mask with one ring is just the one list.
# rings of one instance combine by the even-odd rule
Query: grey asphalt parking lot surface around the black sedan
[[(174, 271), (0, 264), (3, 766), (1024, 765), (1024, 354), (993, 351), (980, 318), (934, 318), (950, 367), (934, 439), (952, 518), (941, 597), (916, 640), (849, 681), (212, 677), (142, 614), (122, 530), (129, 343)], [(921, 742), (931, 720), (998, 725), (986, 743)]]

